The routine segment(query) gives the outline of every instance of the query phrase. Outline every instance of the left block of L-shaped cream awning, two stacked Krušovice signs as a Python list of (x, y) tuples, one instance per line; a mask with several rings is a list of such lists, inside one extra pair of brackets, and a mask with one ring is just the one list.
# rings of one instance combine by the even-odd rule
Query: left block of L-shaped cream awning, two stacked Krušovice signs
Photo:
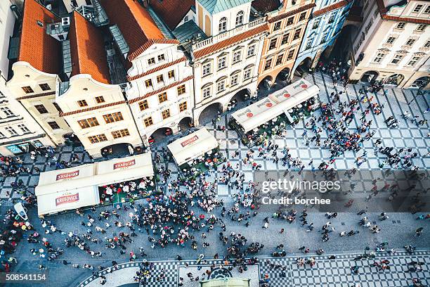
[(93, 164), (41, 172), (34, 192), (39, 216), (100, 203)]

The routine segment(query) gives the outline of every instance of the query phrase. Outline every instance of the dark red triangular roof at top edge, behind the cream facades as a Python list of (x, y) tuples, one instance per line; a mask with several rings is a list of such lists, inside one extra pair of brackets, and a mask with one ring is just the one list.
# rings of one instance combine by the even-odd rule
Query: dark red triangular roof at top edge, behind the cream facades
[(195, 0), (164, 0), (150, 1), (150, 6), (162, 18), (170, 30), (174, 30), (182, 19), (195, 5)]

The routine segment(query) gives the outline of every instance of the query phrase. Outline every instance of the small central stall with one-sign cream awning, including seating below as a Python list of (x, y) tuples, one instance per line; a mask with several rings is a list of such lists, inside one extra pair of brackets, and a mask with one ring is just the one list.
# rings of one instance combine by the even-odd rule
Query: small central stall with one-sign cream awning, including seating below
[(193, 175), (223, 161), (219, 144), (206, 128), (183, 136), (167, 146), (171, 155), (185, 175)]

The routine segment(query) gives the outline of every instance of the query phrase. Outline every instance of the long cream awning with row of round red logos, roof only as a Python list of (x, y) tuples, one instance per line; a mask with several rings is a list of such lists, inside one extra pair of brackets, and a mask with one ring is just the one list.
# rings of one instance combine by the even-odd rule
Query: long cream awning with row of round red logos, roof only
[(320, 89), (305, 79), (276, 91), (275, 93), (253, 103), (247, 108), (237, 110), (232, 117), (245, 129), (245, 133), (263, 125), (289, 109), (298, 106), (313, 96), (317, 96)]

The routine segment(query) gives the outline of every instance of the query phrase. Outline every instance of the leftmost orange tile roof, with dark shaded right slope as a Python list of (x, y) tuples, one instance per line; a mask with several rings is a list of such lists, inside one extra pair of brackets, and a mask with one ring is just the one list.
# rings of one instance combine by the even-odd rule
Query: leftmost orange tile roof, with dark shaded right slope
[[(44, 27), (40, 27), (37, 21)], [(61, 69), (61, 44), (45, 31), (48, 23), (58, 21), (60, 18), (37, 1), (25, 0), (18, 60), (30, 63), (42, 72), (58, 74)]]

